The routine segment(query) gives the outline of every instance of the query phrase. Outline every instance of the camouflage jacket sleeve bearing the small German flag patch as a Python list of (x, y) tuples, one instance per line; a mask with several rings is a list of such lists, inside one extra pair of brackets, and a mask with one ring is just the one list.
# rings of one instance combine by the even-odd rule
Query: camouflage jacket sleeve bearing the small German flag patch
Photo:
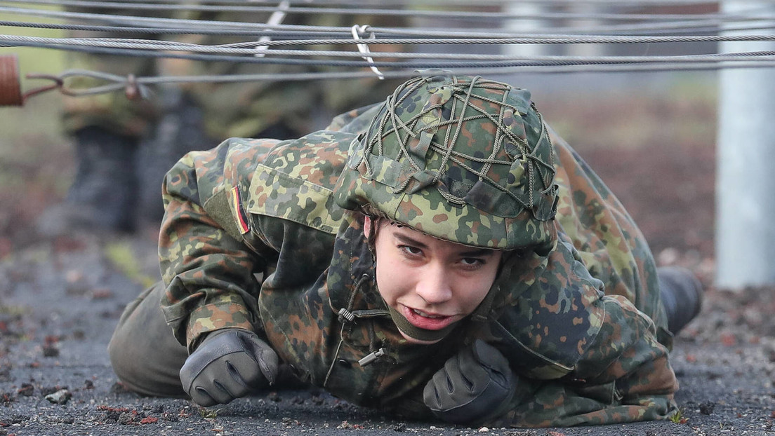
[[(205, 204), (223, 199), (236, 187), (250, 184), (250, 163), (276, 141), (229, 139), (215, 149), (184, 156), (165, 177), (165, 214), (159, 237), (160, 269), (167, 291), (161, 307), (178, 342), (195, 348), (198, 338), (220, 328), (260, 327), (255, 301), (263, 273), (273, 256), (263, 245), (248, 245), (227, 232), (205, 211)], [(230, 162), (238, 164), (232, 165)], [(211, 211), (232, 215), (229, 202), (213, 201)], [(226, 211), (224, 211), (226, 209)], [(231, 223), (232, 227), (234, 223)]]

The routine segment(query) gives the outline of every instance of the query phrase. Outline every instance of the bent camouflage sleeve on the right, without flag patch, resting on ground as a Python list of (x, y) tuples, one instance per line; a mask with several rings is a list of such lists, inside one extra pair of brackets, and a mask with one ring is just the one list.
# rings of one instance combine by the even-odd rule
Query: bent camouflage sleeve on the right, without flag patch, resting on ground
[(604, 295), (573, 247), (558, 247), (521, 311), (498, 320), (497, 345), (518, 386), (501, 409), (508, 411), (489, 424), (615, 424), (673, 414), (678, 383), (653, 321), (625, 297)]

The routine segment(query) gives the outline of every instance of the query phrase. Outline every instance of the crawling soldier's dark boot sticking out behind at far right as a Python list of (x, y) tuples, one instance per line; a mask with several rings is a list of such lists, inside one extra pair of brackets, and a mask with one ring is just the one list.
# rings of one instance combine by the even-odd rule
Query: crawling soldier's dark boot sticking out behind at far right
[(656, 269), (662, 304), (667, 312), (667, 329), (673, 335), (694, 319), (702, 307), (702, 284), (690, 270), (678, 266)]

